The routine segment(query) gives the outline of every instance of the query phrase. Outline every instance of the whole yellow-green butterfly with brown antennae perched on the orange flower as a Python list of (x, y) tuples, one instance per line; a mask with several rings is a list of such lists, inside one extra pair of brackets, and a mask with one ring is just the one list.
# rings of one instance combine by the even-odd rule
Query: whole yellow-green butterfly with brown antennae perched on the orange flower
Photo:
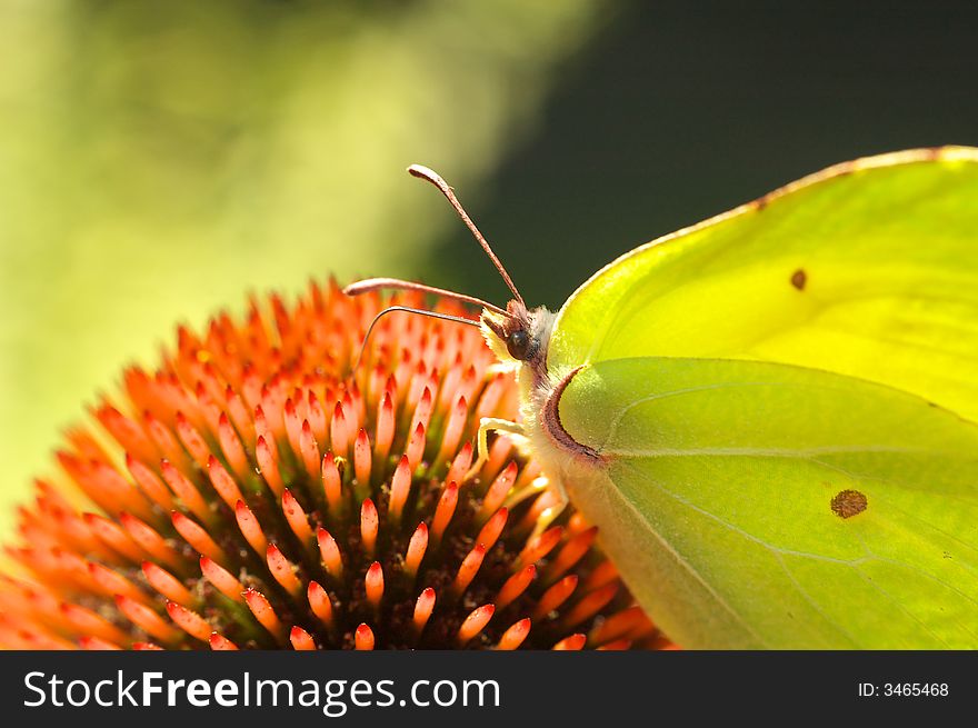
[[(978, 647), (978, 149), (837, 164), (480, 326), (555, 491), (681, 647)], [(560, 502), (563, 502), (561, 500)], [(550, 517), (559, 511), (556, 507)]]

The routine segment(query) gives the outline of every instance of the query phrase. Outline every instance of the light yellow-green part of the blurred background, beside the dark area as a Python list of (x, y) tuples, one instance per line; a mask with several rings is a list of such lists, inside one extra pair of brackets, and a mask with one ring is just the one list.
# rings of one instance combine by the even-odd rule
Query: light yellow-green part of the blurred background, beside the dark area
[(426, 273), (537, 128), (593, 0), (0, 3), (2, 525), (59, 430), (177, 321), (312, 276)]

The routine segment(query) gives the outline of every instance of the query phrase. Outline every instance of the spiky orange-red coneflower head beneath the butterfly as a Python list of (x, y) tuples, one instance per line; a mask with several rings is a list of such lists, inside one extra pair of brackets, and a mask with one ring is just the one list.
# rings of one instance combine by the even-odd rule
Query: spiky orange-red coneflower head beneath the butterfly
[(466, 478), (479, 419), (517, 411), (478, 331), (391, 313), (352, 371), (392, 300), (252, 300), (126, 370), (19, 511), (0, 646), (669, 647), (595, 528), (538, 528), (550, 496), (512, 441)]

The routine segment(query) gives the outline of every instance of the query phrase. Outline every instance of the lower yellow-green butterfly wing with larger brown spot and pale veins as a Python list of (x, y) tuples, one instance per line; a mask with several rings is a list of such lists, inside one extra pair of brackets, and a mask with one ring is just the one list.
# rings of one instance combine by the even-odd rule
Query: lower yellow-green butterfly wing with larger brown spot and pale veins
[(560, 418), (610, 480), (571, 478), (571, 498), (678, 644), (978, 645), (978, 427), (952, 412), (812, 369), (655, 357), (582, 368)]

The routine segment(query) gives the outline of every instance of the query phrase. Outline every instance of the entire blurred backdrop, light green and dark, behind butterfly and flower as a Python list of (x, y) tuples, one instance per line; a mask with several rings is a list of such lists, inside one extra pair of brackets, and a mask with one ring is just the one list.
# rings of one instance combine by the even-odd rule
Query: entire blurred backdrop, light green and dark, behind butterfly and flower
[(177, 321), (309, 277), (528, 301), (829, 163), (978, 144), (974, 2), (0, 0), (0, 529)]

